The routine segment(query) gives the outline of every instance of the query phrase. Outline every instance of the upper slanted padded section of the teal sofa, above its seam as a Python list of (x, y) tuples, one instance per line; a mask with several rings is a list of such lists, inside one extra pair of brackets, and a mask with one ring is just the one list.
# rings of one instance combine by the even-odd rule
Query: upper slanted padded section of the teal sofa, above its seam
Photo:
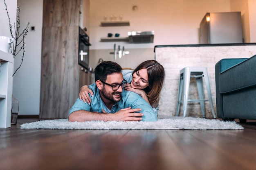
[(256, 55), (238, 63), (219, 75), (220, 93), (256, 86)]

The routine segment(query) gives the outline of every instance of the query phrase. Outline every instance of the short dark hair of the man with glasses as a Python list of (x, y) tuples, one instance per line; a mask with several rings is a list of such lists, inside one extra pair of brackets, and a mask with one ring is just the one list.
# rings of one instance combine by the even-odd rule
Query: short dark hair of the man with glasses
[(122, 68), (119, 64), (112, 61), (103, 61), (94, 69), (95, 81), (106, 81), (109, 74), (120, 73), (121, 70)]

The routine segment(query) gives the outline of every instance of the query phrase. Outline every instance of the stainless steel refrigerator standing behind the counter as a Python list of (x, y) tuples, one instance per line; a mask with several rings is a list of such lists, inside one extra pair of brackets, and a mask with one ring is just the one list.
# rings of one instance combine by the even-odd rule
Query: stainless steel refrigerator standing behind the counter
[(206, 13), (200, 23), (200, 44), (243, 43), (241, 12)]

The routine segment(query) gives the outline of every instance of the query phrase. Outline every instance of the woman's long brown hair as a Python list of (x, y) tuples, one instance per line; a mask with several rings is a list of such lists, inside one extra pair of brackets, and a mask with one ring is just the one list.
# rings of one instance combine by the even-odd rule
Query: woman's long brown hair
[(146, 68), (148, 72), (148, 87), (143, 89), (148, 95), (148, 101), (152, 107), (158, 107), (160, 93), (164, 84), (164, 67), (155, 60), (147, 60), (138, 65), (132, 75), (138, 70)]

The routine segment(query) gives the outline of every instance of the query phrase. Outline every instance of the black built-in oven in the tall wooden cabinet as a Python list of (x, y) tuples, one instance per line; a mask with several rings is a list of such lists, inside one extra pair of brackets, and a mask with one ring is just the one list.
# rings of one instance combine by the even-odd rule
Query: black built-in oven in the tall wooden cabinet
[(85, 33), (86, 28), (79, 27), (79, 50), (78, 63), (86, 70), (89, 70), (89, 36)]

